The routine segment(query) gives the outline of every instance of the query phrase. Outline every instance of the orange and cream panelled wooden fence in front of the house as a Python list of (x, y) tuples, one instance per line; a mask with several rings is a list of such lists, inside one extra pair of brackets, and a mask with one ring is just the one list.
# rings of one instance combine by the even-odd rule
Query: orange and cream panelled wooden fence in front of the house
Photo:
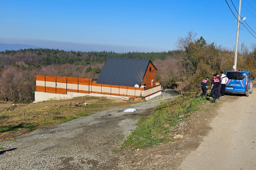
[(161, 87), (159, 88), (161, 84), (145, 90), (143, 88), (140, 89), (128, 86), (97, 84), (95, 81), (92, 81), (92, 79), (79, 77), (35, 75), (35, 81), (36, 91), (57, 94), (67, 94), (68, 92), (97, 93), (135, 98), (137, 96), (149, 96), (150, 92), (157, 93), (161, 90)]

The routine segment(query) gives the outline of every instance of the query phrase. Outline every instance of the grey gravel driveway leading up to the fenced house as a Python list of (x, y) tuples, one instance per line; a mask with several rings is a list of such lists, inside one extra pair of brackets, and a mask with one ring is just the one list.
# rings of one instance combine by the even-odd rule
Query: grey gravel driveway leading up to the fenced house
[[(152, 100), (175, 95), (168, 91)], [(137, 128), (134, 118), (159, 103), (113, 108), (0, 142), (0, 169), (118, 169), (113, 149)], [(124, 113), (126, 108), (138, 111)]]

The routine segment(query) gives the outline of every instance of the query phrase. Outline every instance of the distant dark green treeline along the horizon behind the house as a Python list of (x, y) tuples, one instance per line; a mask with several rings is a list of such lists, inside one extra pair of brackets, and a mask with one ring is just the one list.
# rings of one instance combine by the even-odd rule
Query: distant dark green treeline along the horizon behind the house
[(11, 65), (16, 62), (24, 62), (27, 65), (52, 65), (52, 64), (97, 64), (104, 63), (107, 57), (124, 57), (132, 59), (156, 59), (164, 60), (167, 56), (179, 53), (179, 51), (169, 52), (65, 52), (64, 50), (54, 50), (47, 48), (28, 48), (24, 50), (5, 50), (0, 52), (0, 65)]

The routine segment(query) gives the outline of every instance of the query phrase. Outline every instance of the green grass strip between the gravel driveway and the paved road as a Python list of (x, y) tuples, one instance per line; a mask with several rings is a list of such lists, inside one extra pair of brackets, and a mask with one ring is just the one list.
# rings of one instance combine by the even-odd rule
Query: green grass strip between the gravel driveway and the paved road
[(147, 119), (139, 121), (138, 128), (128, 136), (121, 147), (146, 148), (172, 140), (170, 132), (180, 122), (188, 120), (190, 114), (206, 103), (204, 97), (181, 97), (156, 106)]

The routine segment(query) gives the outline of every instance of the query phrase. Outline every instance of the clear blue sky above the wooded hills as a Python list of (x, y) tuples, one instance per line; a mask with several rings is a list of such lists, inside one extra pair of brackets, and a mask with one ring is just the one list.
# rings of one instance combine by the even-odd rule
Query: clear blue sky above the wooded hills
[[(233, 3), (238, 9), (239, 1)], [(256, 33), (256, 0), (241, 4), (241, 16)], [(167, 52), (175, 50), (178, 38), (188, 31), (222, 47), (234, 49), (236, 43), (236, 18), (225, 0), (1, 0), (0, 6), (3, 44), (85, 52)], [(241, 42), (250, 47), (255, 37), (241, 25), (239, 47)]]

